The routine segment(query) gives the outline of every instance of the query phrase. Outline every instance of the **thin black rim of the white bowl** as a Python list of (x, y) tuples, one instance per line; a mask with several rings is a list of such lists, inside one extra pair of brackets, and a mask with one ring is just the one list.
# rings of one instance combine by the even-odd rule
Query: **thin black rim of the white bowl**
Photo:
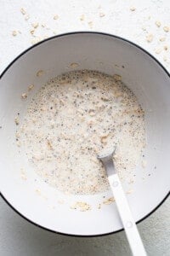
[[(27, 49), (25, 49), (24, 51), (22, 51), (20, 53), (20, 55), (17, 55), (13, 61), (11, 61), (8, 66), (3, 70), (3, 72), (0, 74), (0, 79), (3, 78), (3, 75), (8, 71), (8, 69), (14, 64), (15, 61), (18, 61), (20, 59), (20, 57), (22, 55), (25, 55), (27, 52), (29, 52), (31, 49), (34, 49), (36, 48), (38, 45), (40, 44), (43, 44), (45, 42), (48, 42), (50, 40), (53, 40), (54, 38), (61, 38), (61, 37), (65, 37), (65, 36), (69, 36), (69, 35), (77, 35), (77, 34), (96, 34), (96, 35), (100, 35), (100, 36), (107, 36), (107, 37), (111, 37), (111, 38), (117, 38), (117, 39), (120, 39), (128, 44), (131, 44), (133, 45), (134, 47), (136, 47), (137, 49), (140, 49), (141, 51), (143, 51), (146, 55), (149, 55), (150, 58), (153, 60), (153, 61), (156, 61), (156, 63), (161, 67), (161, 69), (167, 73), (167, 76), (169, 77), (170, 79), (170, 73), (168, 73), (167, 69), (161, 64), (160, 61), (158, 61), (156, 59), (156, 57), (154, 55), (151, 55), (150, 52), (148, 52), (146, 49), (142, 48), (141, 46), (139, 46), (138, 44), (135, 44), (133, 43), (132, 41), (126, 39), (126, 38), (122, 38), (122, 37), (119, 37), (119, 36), (116, 36), (114, 34), (111, 34), (111, 33), (106, 33), (106, 32), (92, 32), (92, 31), (77, 31), (77, 32), (65, 32), (65, 33), (61, 33), (59, 35), (55, 35), (53, 37), (50, 37), (50, 38), (46, 38), (44, 40), (42, 40), (41, 42), (37, 43), (37, 44), (34, 44), (34, 45), (31, 45), (30, 47), (28, 47)], [(36, 225), (37, 227), (43, 229), (43, 230), (47, 230), (47, 231), (50, 231), (50, 232), (53, 232), (55, 234), (59, 234), (59, 235), (64, 235), (64, 236), (74, 236), (74, 237), (97, 237), (97, 236), (107, 236), (107, 235), (112, 235), (112, 234), (116, 234), (118, 232), (121, 232), (122, 230), (124, 229), (120, 229), (120, 230), (116, 230), (116, 231), (112, 231), (112, 232), (108, 232), (108, 233), (105, 233), (105, 234), (99, 234), (99, 235), (74, 235), (74, 234), (67, 234), (67, 233), (64, 233), (64, 232), (59, 232), (59, 231), (56, 231), (56, 230), (51, 230), (51, 229), (48, 229), (40, 224), (37, 224), (35, 223), (33, 220), (27, 218), (25, 215), (23, 215), (21, 212), (19, 212), (17, 209), (15, 209), (7, 200), (7, 198), (5, 198), (5, 196), (3, 195), (2, 192), (0, 192), (0, 195), (1, 197), (3, 198), (3, 200), (8, 204), (9, 207), (11, 207), (14, 212), (18, 213), (20, 215), (20, 217), (22, 218), (25, 218), (26, 221), (28, 221), (29, 223), (31, 224), (34, 224)], [(165, 195), (165, 197), (162, 199), (162, 201), (151, 211), (149, 212), (148, 214), (146, 214), (143, 218), (140, 218), (139, 221), (136, 223), (136, 224), (139, 224), (140, 222), (142, 222), (145, 218), (148, 218), (153, 212), (156, 212), (156, 210), (161, 207), (161, 205), (163, 204), (164, 201), (167, 200), (167, 197), (168, 195), (170, 195), (170, 191), (167, 192), (167, 195)]]

